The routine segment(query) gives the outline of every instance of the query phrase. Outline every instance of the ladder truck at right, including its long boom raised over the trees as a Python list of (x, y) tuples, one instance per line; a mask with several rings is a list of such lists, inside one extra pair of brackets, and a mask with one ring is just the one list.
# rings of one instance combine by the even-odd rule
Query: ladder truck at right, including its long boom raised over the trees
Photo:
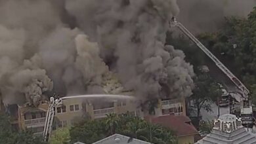
[[(191, 41), (193, 41), (213, 62), (223, 73), (232, 81), (236, 87), (240, 90), (240, 93), (242, 94), (242, 100), (239, 101), (239, 108), (235, 109), (234, 111), (230, 111), (230, 113), (234, 114), (236, 111), (240, 111), (240, 117), (242, 119), (242, 124), (246, 127), (252, 127), (253, 126), (253, 108), (251, 105), (251, 101), (249, 101), (249, 90), (245, 87), (245, 85), (228, 69), (226, 66), (221, 63), (203, 44), (194, 37), (186, 27), (184, 27), (180, 22), (177, 22), (176, 18), (173, 17), (169, 21), (169, 27), (178, 27), (182, 33), (184, 33)], [(234, 105), (234, 104), (233, 104)], [(232, 105), (230, 105), (232, 106)]]

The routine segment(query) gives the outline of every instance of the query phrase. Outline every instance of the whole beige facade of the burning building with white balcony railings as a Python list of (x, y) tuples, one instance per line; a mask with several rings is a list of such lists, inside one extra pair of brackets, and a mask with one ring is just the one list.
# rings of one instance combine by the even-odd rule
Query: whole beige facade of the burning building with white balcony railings
[[(129, 94), (123, 94), (129, 95)], [(62, 106), (56, 107), (54, 126), (62, 128), (72, 126), (84, 118), (104, 118), (110, 113), (131, 113), (133, 115), (144, 117), (144, 113), (138, 107), (135, 99), (86, 99), (69, 98), (62, 100)], [(100, 101), (100, 102), (99, 102)], [(28, 105), (18, 105), (18, 118), (12, 121), (12, 124), (18, 125), (22, 130), (31, 130), (35, 134), (42, 134), (45, 124), (45, 117), (49, 103), (41, 103), (38, 107), (29, 107)], [(165, 99), (159, 101), (156, 115), (186, 115), (184, 99)]]

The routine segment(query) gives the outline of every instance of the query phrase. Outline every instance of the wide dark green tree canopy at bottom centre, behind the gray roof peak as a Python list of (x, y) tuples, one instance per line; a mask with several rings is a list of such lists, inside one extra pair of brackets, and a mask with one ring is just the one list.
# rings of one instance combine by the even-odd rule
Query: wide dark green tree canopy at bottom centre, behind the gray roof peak
[(94, 143), (112, 134), (127, 135), (151, 143), (177, 143), (173, 132), (133, 115), (110, 114), (99, 120), (85, 120), (70, 130), (71, 142)]

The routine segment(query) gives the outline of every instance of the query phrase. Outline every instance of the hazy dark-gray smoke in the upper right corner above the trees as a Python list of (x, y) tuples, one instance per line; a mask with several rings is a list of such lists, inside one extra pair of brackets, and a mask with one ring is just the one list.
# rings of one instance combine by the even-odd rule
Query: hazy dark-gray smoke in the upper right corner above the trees
[(178, 20), (192, 33), (216, 31), (224, 16), (246, 18), (256, 6), (256, 0), (178, 0), (181, 12)]

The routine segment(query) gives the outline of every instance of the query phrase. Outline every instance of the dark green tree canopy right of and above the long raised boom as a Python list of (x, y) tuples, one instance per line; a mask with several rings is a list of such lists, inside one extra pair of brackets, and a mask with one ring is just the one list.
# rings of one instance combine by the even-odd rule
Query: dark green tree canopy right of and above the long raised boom
[(226, 18), (217, 33), (199, 35), (202, 42), (247, 86), (256, 83), (256, 7), (247, 19)]

